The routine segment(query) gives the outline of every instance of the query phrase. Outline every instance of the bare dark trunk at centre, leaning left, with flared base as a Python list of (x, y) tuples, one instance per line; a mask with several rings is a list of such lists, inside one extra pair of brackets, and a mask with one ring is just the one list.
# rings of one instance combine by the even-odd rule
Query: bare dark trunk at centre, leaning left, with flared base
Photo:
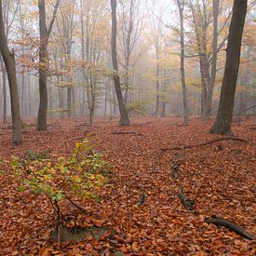
[(115, 83), (115, 93), (119, 105), (121, 126), (129, 126), (128, 111), (124, 103), (122, 89), (120, 86), (120, 77), (118, 74), (118, 62), (117, 62), (117, 51), (116, 51), (116, 0), (111, 0), (111, 17), (112, 17), (112, 34), (111, 34), (111, 49), (112, 49), (112, 64), (115, 74), (113, 75)]

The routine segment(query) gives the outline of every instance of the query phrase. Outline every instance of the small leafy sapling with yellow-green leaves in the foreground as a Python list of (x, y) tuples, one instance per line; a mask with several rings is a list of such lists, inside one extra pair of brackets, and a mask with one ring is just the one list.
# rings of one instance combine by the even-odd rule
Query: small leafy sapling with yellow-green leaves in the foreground
[(106, 163), (88, 140), (76, 142), (70, 157), (12, 157), (10, 164), (19, 179), (19, 191), (47, 195), (55, 210), (57, 225), (63, 222), (61, 201), (66, 199), (82, 209), (74, 203), (74, 198), (99, 199), (94, 192), (105, 182), (102, 173)]

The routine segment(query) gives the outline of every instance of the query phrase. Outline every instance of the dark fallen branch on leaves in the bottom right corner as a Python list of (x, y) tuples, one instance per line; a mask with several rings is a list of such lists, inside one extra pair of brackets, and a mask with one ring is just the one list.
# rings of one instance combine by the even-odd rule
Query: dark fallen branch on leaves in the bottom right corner
[(235, 223), (226, 221), (222, 218), (213, 216), (212, 218), (206, 218), (205, 222), (215, 224), (216, 226), (226, 227), (227, 229), (234, 231), (236, 232), (236, 234), (243, 236), (249, 240), (256, 240), (256, 236), (249, 234), (243, 228), (237, 226)]

